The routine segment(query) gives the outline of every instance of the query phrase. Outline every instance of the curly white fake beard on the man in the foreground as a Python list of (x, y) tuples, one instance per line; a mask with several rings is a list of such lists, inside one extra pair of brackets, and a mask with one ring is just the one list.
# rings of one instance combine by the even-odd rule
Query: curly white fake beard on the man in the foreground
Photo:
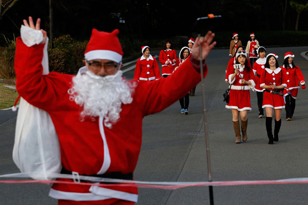
[(121, 105), (132, 102), (131, 94), (136, 83), (122, 78), (119, 70), (114, 75), (99, 76), (87, 71), (84, 75), (73, 77), (73, 86), (68, 90), (70, 100), (83, 106), (81, 120), (86, 116), (103, 117), (104, 125), (111, 129), (120, 118)]

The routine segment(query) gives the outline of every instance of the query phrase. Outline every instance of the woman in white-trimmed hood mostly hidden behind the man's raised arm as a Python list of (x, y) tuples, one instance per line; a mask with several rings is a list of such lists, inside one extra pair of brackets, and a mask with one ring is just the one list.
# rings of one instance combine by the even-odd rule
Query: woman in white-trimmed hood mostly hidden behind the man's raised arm
[[(179, 66), (181, 66), (184, 63), (184, 61), (188, 58), (189, 55), (190, 55), (189, 48), (183, 47), (179, 53)], [(175, 71), (179, 68), (179, 66), (175, 68)], [(188, 115), (189, 92), (179, 101), (181, 105), (181, 113)]]

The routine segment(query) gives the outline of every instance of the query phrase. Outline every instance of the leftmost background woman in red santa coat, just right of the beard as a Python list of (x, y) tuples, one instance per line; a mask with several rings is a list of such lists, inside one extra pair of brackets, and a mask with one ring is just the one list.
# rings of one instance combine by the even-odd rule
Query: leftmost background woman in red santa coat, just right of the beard
[(136, 80), (158, 80), (160, 71), (155, 58), (150, 54), (148, 46), (141, 47), (143, 55), (137, 60), (133, 78)]

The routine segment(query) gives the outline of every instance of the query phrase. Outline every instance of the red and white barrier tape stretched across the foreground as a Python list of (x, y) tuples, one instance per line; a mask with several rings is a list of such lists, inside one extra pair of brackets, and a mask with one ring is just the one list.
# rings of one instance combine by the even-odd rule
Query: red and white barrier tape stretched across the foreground
[[(35, 173), (16, 173), (0, 175), (0, 178), (25, 178), (30, 175), (36, 175)], [(40, 174), (37, 174), (40, 175)], [(48, 176), (56, 176), (57, 178), (70, 178), (72, 175), (68, 174), (49, 174)], [(93, 181), (93, 182), (112, 182), (106, 183), (91, 183), (91, 182), (78, 182), (78, 185), (85, 186), (99, 186), (99, 187), (140, 187), (140, 188), (153, 188), (153, 189), (168, 189), (175, 190), (185, 187), (201, 187), (201, 186), (239, 186), (239, 185), (283, 185), (291, 183), (308, 183), (308, 178), (290, 178), (280, 180), (252, 180), (252, 181), (199, 181), (199, 182), (153, 182), (153, 181), (132, 181), (121, 179), (110, 179), (100, 177), (80, 176), (81, 180)], [(65, 183), (73, 184), (73, 181), (61, 181), (61, 180), (0, 180), (0, 183)]]

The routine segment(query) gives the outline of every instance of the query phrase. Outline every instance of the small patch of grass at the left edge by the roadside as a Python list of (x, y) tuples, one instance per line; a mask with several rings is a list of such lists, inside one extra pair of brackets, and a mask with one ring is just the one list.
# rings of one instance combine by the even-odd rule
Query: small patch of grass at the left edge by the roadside
[(0, 110), (14, 106), (18, 93), (15, 89), (5, 87), (6, 84), (0, 84)]

